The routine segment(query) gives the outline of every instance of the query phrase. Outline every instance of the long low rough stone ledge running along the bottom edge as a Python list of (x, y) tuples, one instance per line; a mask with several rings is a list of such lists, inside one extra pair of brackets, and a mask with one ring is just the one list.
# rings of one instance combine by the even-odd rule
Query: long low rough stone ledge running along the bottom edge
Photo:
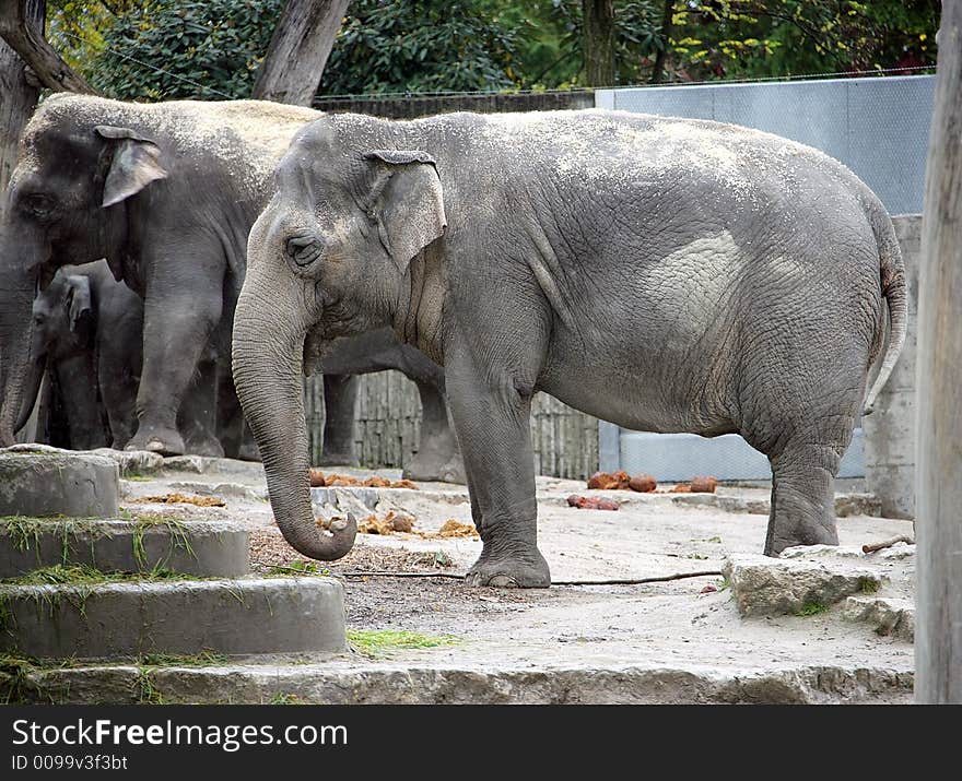
[(709, 705), (901, 703), (913, 672), (867, 666), (731, 668), (597, 663), (523, 667), (372, 662), (25, 668), (4, 676), (11, 702), (130, 705)]

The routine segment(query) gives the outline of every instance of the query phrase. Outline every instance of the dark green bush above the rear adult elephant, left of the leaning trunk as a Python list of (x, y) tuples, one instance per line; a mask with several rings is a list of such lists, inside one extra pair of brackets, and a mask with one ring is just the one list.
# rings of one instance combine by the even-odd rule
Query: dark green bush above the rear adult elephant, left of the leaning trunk
[(114, 20), (86, 74), (127, 99), (249, 97), (282, 4), (146, 0)]

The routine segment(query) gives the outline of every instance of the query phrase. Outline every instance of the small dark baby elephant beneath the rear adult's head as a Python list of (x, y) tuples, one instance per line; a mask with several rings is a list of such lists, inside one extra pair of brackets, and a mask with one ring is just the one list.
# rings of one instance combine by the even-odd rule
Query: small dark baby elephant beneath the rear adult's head
[(16, 429), (49, 370), (66, 409), (70, 447), (122, 448), (137, 424), (142, 332), (143, 304), (105, 261), (59, 269), (33, 303), (31, 364)]

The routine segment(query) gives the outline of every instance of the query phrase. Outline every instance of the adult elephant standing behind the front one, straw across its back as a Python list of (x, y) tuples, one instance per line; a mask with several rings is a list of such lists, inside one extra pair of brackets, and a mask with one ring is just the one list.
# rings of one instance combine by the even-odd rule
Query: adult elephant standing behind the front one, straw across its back
[[(144, 304), (138, 427), (127, 448), (184, 452), (179, 412), (198, 426), (191, 452), (223, 454), (218, 367), (230, 377), (247, 234), (275, 163), (319, 116), (249, 100), (144, 105), (68, 94), (39, 106), (0, 224), (0, 445), (12, 442), (21, 409), (37, 282), (45, 287), (58, 265), (106, 258)], [(353, 460), (353, 399), (328, 403), (328, 439), (342, 462)], [(222, 436), (237, 447), (239, 416), (235, 425)]]

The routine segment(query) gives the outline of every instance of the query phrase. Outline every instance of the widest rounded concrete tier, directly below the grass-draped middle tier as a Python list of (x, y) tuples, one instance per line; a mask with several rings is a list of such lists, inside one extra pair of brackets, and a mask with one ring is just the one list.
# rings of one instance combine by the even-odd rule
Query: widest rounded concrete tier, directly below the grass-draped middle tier
[(333, 578), (0, 585), (0, 651), (37, 659), (337, 652)]

